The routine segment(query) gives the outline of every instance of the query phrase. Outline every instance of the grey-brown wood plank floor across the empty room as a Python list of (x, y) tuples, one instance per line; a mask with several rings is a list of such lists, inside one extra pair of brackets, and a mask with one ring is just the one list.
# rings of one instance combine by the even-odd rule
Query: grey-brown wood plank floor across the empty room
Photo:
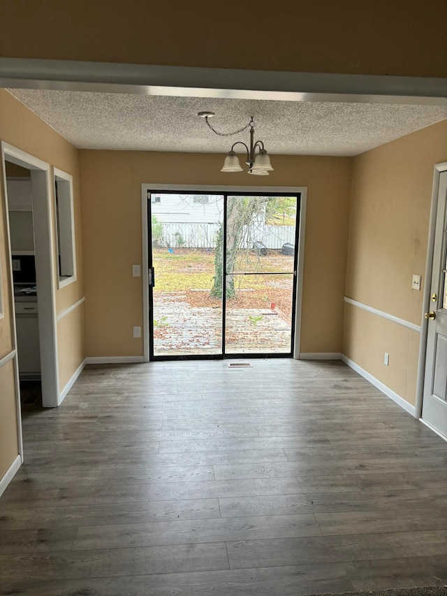
[(447, 443), (342, 363), (91, 367), (26, 412), (0, 593), (447, 584)]

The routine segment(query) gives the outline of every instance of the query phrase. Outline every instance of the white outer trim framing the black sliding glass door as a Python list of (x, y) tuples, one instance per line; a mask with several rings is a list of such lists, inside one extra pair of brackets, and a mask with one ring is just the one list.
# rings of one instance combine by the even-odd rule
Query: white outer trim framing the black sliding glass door
[(212, 193), (259, 193), (260, 195), (289, 193), (300, 194), (300, 214), (298, 221), (298, 262), (295, 297), (295, 334), (293, 337), (293, 358), (300, 358), (301, 338), (301, 307), (302, 307), (302, 279), (304, 271), (305, 251), (305, 228), (307, 208), (307, 187), (255, 187), (255, 186), (221, 186), (221, 185), (200, 185), (200, 184), (141, 184), (141, 212), (142, 212), (142, 337), (143, 337), (143, 360), (150, 360), (150, 324), (149, 324), (149, 233), (147, 228), (147, 191), (200, 191)]

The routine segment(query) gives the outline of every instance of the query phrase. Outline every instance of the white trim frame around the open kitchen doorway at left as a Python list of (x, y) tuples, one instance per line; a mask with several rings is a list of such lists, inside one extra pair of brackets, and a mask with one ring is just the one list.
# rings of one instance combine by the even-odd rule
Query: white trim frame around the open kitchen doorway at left
[[(8, 231), (8, 260), (10, 268), (10, 300), (13, 310), (13, 341), (15, 376), (17, 383), (17, 419), (21, 430), (20, 384), (17, 363), (17, 333), (13, 270), (11, 262), (10, 224), (8, 215), (8, 189), (6, 187), (6, 161), (27, 168), (31, 172), (31, 191), (34, 219), (34, 252), (38, 279), (38, 324), (41, 351), (41, 383), (43, 407), (59, 405), (59, 368), (57, 351), (56, 291), (54, 269), (54, 228), (52, 210), (52, 168), (49, 163), (24, 152), (4, 141), (0, 143), (3, 192), (5, 196), (6, 229)], [(20, 437), (21, 437), (20, 433)]]

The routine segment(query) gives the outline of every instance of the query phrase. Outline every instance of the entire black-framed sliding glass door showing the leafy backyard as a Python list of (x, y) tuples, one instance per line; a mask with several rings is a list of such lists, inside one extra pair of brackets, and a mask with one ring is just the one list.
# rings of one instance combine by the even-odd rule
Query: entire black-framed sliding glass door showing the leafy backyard
[(300, 193), (146, 201), (150, 358), (292, 356)]

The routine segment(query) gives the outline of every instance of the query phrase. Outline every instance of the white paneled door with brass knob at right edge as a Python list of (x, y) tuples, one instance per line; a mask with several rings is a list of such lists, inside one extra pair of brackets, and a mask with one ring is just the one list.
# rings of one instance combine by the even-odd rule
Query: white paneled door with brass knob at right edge
[(422, 417), (447, 437), (447, 172), (439, 178)]

